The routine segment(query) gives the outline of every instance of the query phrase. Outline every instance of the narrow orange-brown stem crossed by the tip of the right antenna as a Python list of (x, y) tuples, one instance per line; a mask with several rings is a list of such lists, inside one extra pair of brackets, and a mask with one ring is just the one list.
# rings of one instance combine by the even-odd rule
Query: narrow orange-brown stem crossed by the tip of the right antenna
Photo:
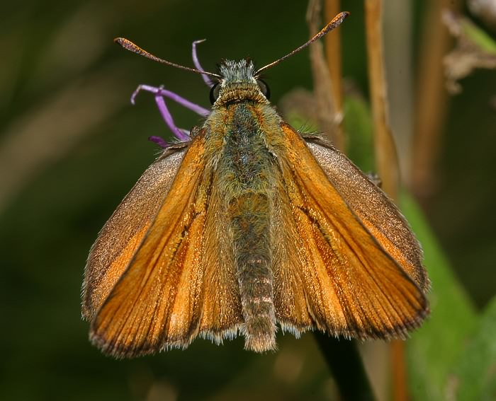
[[(341, 10), (339, 0), (325, 0), (324, 21), (331, 21)], [(326, 35), (324, 39), (327, 68), (331, 76), (332, 95), (334, 107), (338, 115), (343, 112), (342, 100), (342, 65), (341, 65), (341, 30), (337, 28), (332, 35)]]

